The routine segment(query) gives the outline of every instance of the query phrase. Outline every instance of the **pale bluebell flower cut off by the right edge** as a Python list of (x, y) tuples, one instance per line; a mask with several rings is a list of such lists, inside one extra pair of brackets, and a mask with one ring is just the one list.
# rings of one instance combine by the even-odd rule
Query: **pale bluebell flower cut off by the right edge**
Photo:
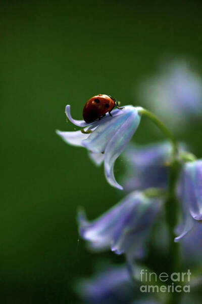
[(202, 220), (202, 160), (187, 162), (179, 181), (179, 199), (182, 203), (183, 227), (175, 238), (178, 242)]

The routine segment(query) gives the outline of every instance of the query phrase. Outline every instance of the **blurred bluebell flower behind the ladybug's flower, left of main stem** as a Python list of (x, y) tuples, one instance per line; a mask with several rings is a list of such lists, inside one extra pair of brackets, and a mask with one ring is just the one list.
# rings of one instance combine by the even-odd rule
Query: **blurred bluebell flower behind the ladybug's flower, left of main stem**
[(126, 161), (122, 178), (124, 190), (166, 188), (171, 152), (172, 146), (167, 141), (143, 146), (130, 144), (123, 153)]

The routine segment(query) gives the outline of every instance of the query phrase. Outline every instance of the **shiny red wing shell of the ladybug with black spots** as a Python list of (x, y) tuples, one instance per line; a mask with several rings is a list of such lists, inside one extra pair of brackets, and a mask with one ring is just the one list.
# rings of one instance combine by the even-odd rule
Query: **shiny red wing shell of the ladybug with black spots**
[(86, 123), (104, 116), (115, 105), (115, 100), (109, 95), (99, 94), (91, 97), (83, 108), (83, 119)]

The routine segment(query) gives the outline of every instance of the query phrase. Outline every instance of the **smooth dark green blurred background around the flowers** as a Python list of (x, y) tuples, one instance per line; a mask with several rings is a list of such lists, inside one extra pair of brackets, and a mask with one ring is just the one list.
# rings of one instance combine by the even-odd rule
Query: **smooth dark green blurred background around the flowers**
[[(1, 2), (1, 229), (3, 303), (76, 303), (73, 283), (113, 253), (90, 254), (78, 241), (76, 209), (95, 218), (123, 194), (84, 148), (55, 129), (77, 130), (85, 102), (106, 93), (136, 104), (134, 83), (156, 71), (162, 56), (202, 62), (197, 2)], [(140, 104), (138, 104), (140, 105)], [(142, 120), (134, 140), (160, 139)], [(201, 124), (180, 134), (202, 156)], [(121, 158), (120, 158), (121, 159)], [(121, 166), (116, 166), (119, 176)]]

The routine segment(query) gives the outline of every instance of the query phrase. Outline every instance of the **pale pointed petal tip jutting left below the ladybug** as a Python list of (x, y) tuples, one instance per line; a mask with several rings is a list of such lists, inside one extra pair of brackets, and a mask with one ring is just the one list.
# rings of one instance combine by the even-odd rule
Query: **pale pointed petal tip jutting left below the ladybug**
[(86, 139), (89, 134), (83, 134), (81, 131), (63, 132), (56, 130), (56, 133), (67, 143), (82, 146), (82, 140)]

